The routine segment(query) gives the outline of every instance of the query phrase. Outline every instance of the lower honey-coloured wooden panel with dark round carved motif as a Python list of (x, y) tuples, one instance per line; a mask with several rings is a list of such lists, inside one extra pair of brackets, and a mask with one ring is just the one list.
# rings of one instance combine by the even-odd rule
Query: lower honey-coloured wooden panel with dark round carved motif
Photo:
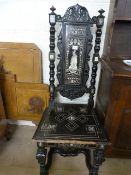
[(32, 121), (41, 119), (43, 110), (48, 106), (48, 85), (16, 82), (15, 75), (1, 73), (0, 87), (8, 119)]

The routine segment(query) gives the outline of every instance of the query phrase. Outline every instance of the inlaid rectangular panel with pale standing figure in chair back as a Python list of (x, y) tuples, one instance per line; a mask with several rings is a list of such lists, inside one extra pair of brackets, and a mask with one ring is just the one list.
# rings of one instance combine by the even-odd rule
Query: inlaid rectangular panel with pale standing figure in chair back
[[(79, 35), (79, 38), (77, 37)], [(66, 25), (65, 84), (81, 84), (86, 26)]]

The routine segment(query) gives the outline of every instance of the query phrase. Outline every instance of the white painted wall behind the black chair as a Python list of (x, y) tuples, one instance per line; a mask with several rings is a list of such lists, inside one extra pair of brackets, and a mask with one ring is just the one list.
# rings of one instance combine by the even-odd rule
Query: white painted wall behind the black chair
[[(43, 81), (49, 82), (49, 22), (50, 7), (56, 7), (56, 13), (63, 15), (65, 10), (76, 3), (87, 7), (90, 16), (105, 10), (101, 48), (106, 33), (109, 5), (114, 0), (0, 0), (0, 41), (32, 42), (42, 51)], [(103, 49), (100, 53), (102, 54)], [(86, 98), (85, 98), (86, 99)]]

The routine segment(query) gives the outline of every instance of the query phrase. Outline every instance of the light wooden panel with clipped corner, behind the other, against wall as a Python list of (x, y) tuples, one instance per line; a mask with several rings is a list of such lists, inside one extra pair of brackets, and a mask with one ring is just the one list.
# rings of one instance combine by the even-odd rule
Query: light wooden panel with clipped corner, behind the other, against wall
[(0, 58), (18, 82), (41, 83), (41, 51), (35, 44), (0, 42)]

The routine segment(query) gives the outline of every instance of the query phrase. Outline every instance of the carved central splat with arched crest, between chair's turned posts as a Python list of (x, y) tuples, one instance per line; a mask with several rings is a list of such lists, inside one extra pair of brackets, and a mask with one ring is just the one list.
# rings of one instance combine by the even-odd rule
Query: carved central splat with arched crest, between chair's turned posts
[(85, 7), (71, 6), (62, 18), (58, 35), (58, 91), (71, 100), (87, 93), (89, 53), (92, 49), (91, 18)]

